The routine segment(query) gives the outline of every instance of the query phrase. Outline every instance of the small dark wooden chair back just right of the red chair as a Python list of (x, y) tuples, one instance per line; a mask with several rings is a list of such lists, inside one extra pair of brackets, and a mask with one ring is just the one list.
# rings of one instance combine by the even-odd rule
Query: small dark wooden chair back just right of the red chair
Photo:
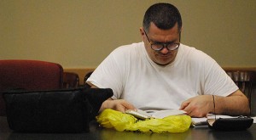
[(63, 87), (79, 87), (79, 75), (74, 72), (64, 72)]

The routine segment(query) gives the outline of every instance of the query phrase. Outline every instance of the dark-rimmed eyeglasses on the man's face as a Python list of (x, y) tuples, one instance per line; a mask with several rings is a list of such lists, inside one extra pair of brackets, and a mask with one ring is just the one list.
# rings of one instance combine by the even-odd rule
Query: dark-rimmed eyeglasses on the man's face
[[(145, 32), (145, 35), (147, 36), (148, 38), (148, 35), (146, 33), (146, 31), (144, 30)], [(180, 39), (180, 37), (179, 37)], [(180, 45), (180, 41), (179, 42), (166, 42), (166, 43), (163, 43), (163, 42), (151, 42), (149, 39), (148, 39), (148, 42), (149, 44), (151, 45), (151, 48), (154, 50), (154, 51), (161, 51), (163, 48), (167, 48), (169, 51), (173, 51), (173, 50), (176, 50), (179, 45)]]

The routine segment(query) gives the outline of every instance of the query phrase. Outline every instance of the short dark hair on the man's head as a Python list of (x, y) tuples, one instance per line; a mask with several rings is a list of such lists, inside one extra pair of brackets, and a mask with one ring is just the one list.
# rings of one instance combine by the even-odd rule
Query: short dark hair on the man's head
[(176, 23), (179, 31), (182, 28), (181, 15), (178, 9), (170, 3), (155, 3), (150, 6), (143, 19), (145, 31), (148, 31), (151, 22), (163, 30), (171, 29)]

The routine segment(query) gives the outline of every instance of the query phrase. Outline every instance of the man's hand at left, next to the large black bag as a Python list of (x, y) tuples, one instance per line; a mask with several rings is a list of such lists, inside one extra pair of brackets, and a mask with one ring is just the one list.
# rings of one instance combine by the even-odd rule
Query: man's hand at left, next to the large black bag
[(128, 103), (124, 99), (115, 99), (113, 100), (112, 98), (109, 98), (105, 102), (102, 103), (102, 107), (100, 109), (100, 112), (103, 109), (114, 109), (120, 112), (125, 113), (126, 109), (133, 109), (137, 110), (132, 104)]

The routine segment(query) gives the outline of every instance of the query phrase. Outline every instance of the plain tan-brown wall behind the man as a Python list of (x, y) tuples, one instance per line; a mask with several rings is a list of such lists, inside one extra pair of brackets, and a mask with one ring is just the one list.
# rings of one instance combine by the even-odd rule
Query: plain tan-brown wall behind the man
[[(145, 10), (158, 0), (15, 0), (0, 3), (0, 59), (96, 68), (114, 48), (141, 42)], [(165, 2), (165, 1), (162, 1)], [(172, 0), (181, 42), (224, 67), (256, 67), (256, 1)]]

